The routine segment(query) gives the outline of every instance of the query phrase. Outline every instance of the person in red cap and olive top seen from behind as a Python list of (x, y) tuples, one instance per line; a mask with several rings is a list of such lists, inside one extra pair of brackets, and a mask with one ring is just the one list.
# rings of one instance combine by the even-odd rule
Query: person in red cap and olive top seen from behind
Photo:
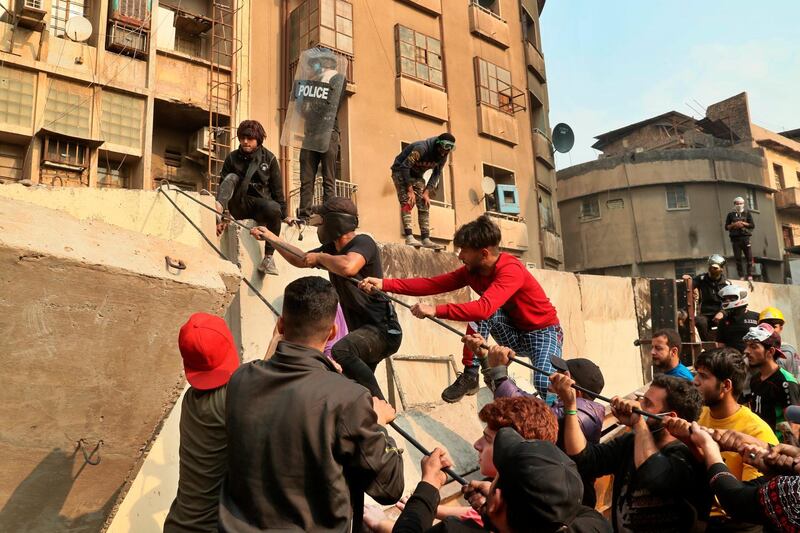
[(189, 317), (178, 346), (190, 387), (181, 403), (178, 495), (164, 532), (216, 532), (228, 458), (225, 396), (239, 354), (225, 321), (206, 313)]

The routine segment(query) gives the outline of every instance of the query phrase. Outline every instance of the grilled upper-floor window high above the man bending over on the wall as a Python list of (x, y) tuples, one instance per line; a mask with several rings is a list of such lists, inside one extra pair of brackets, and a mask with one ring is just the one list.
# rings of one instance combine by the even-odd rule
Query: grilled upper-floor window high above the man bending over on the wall
[(398, 24), (395, 26), (395, 40), (398, 74), (444, 89), (439, 39)]

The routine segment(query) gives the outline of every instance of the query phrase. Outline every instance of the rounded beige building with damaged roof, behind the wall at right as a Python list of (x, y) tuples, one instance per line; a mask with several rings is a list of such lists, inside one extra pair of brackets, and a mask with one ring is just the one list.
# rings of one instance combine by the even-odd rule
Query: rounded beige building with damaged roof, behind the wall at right
[(800, 144), (753, 124), (746, 93), (701, 119), (673, 111), (604, 133), (594, 148), (597, 161), (558, 172), (568, 270), (680, 277), (720, 253), (735, 277), (724, 221), (741, 196), (756, 224), (757, 279), (791, 277)]

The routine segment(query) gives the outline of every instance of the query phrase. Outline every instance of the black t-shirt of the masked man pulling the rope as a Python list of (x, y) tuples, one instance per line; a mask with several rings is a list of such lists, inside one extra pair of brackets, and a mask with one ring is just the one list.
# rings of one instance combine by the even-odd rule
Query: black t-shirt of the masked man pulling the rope
[[(312, 250), (330, 255), (347, 255), (355, 252), (362, 256), (366, 263), (358, 271), (356, 278), (383, 278), (383, 265), (381, 264), (381, 254), (378, 245), (369, 235), (356, 235), (353, 240), (347, 243), (341, 250), (336, 250), (336, 246), (331, 242)], [(355, 283), (331, 273), (331, 283), (339, 295), (339, 303), (342, 306), (347, 328), (354, 331), (363, 326), (378, 326), (384, 330), (400, 331), (400, 324), (397, 322), (397, 315), (392, 303), (385, 298), (370, 296), (358, 289)]]

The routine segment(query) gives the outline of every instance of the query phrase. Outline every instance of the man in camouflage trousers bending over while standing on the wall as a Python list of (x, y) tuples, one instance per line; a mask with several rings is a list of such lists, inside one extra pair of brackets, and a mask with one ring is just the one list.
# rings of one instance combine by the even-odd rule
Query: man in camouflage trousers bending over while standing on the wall
[[(430, 238), (430, 193), (438, 188), (447, 156), (455, 147), (456, 138), (445, 132), (438, 137), (409, 144), (392, 163), (392, 181), (397, 189), (403, 232), (408, 245), (439, 247)], [(429, 169), (433, 169), (433, 173), (426, 184), (424, 174)], [(414, 238), (411, 228), (411, 210), (415, 204), (422, 242)]]

